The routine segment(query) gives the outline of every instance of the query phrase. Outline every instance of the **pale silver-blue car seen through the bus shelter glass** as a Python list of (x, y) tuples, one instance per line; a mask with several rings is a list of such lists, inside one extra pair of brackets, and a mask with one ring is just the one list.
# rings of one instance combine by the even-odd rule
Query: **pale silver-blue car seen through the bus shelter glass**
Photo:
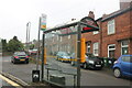
[(69, 62), (70, 61), (70, 56), (66, 52), (58, 52), (56, 54), (56, 56), (57, 56), (57, 61), (61, 61), (61, 62)]

